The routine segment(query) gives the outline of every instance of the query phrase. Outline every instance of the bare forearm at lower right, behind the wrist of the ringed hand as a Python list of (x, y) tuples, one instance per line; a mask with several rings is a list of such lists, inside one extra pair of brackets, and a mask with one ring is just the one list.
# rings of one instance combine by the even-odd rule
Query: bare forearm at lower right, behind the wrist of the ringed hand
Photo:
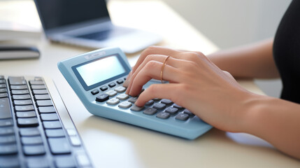
[(300, 105), (257, 96), (248, 104), (241, 132), (269, 141), (278, 150), (300, 159)]

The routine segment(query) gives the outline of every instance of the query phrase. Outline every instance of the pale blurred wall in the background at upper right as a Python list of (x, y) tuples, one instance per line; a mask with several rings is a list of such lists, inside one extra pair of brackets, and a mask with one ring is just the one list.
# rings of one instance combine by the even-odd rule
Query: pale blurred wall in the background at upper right
[[(163, 0), (221, 49), (272, 38), (291, 0)], [(256, 80), (279, 97), (280, 80)]]

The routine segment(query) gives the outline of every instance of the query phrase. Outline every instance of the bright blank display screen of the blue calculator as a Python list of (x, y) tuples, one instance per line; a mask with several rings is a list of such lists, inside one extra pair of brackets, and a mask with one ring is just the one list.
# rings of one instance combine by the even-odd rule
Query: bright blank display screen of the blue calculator
[(76, 67), (87, 87), (126, 72), (117, 55), (103, 57)]

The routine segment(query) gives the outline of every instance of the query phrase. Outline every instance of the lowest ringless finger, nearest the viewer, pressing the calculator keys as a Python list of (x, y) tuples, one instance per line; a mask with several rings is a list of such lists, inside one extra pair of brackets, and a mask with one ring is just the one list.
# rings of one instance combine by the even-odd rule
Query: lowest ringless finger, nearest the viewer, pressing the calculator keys
[(141, 93), (135, 104), (136, 106), (144, 106), (146, 102), (154, 98), (171, 99), (177, 103), (177, 101), (174, 100), (174, 97), (176, 97), (174, 90), (176, 90), (178, 85), (177, 83), (152, 84)]

